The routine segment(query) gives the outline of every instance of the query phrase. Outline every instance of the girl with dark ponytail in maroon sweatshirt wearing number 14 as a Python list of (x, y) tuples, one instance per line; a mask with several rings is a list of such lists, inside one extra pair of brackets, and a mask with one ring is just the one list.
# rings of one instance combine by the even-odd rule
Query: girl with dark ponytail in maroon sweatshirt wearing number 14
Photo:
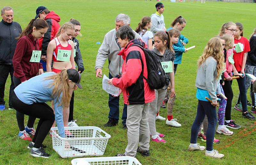
[[(22, 31), (17, 42), (15, 53), (13, 56), (13, 82), (15, 87), (20, 83), (24, 83), (30, 78), (44, 73), (41, 59), (41, 51), (39, 51), (38, 39), (44, 37), (47, 32), (48, 25), (43, 19), (32, 19), (28, 26)], [(35, 119), (32, 116), (28, 118), (28, 124), (24, 127), (24, 114), (16, 111), (16, 118), (20, 132), (18, 137), (22, 140), (32, 139), (29, 135), (35, 135), (35, 128), (33, 127)]]

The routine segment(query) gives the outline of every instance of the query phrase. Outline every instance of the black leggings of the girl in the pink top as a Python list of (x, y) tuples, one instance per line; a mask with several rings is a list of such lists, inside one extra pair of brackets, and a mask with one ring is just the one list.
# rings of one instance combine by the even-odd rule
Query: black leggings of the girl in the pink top
[(225, 119), (231, 120), (231, 106), (232, 106), (232, 100), (233, 100), (233, 90), (232, 90), (232, 81), (224, 81), (224, 85), (222, 85), (223, 91), (227, 99), (227, 105), (225, 110)]

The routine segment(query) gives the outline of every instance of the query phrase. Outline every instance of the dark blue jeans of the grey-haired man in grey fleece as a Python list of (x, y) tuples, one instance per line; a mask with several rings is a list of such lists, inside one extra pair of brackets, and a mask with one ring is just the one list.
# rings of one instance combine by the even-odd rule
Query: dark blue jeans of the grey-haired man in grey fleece
[[(110, 73), (108, 74), (108, 77), (109, 79), (113, 78), (113, 76), (110, 75)], [(112, 95), (109, 94), (108, 106), (110, 109), (108, 118), (114, 118), (119, 120), (119, 96), (113, 97)], [(126, 119), (127, 119), (127, 104), (124, 104), (123, 115), (122, 115), (123, 125), (126, 124)]]

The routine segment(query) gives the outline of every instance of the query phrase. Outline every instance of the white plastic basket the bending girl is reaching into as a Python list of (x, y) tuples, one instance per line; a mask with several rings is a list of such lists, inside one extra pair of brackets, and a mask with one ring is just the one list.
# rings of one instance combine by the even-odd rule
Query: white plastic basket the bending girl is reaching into
[(72, 135), (60, 137), (58, 127), (52, 127), (52, 148), (62, 157), (101, 156), (104, 154), (108, 133), (95, 126), (64, 127)]

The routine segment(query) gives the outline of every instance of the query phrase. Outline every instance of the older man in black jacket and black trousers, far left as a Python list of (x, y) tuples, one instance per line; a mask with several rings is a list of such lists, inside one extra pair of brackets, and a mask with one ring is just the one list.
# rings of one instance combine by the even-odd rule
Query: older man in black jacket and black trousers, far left
[(11, 97), (15, 86), (12, 80), (14, 72), (12, 58), (17, 44), (15, 38), (20, 36), (21, 27), (19, 23), (12, 21), (13, 10), (11, 7), (4, 7), (1, 10), (1, 17), (3, 19), (0, 22), (0, 110), (5, 110), (4, 88), (9, 73), (12, 81), (9, 93), (9, 109), (13, 108)]

